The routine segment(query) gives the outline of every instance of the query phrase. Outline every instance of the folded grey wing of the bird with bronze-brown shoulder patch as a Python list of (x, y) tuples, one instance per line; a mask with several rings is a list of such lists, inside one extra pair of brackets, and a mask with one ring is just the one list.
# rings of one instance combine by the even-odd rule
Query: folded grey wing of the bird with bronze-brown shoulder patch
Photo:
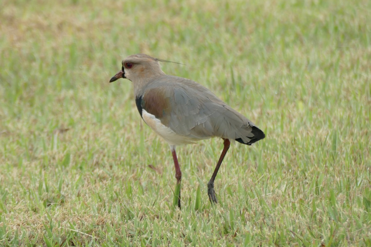
[[(151, 102), (145, 100), (150, 98)], [(157, 77), (148, 83), (143, 99), (148, 109), (155, 108), (150, 107), (152, 104), (165, 105), (151, 114), (177, 134), (195, 139), (213, 136), (240, 139), (245, 144), (254, 137), (254, 124), (250, 120), (192, 80), (168, 75)]]

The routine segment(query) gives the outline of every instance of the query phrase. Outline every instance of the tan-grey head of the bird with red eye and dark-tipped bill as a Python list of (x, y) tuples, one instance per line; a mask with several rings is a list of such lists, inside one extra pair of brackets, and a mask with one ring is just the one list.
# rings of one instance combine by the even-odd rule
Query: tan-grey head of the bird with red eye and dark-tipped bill
[(109, 82), (120, 78), (131, 80), (134, 84), (143, 84), (150, 79), (164, 75), (158, 59), (146, 54), (135, 54), (122, 60), (122, 69)]

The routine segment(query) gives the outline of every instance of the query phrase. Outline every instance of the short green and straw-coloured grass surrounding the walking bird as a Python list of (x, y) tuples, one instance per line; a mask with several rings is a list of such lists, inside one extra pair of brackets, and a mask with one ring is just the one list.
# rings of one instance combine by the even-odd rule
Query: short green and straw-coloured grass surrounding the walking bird
[[(0, 246), (371, 246), (370, 1), (3, 1)], [(137, 112), (135, 53), (266, 133), (171, 153)]]

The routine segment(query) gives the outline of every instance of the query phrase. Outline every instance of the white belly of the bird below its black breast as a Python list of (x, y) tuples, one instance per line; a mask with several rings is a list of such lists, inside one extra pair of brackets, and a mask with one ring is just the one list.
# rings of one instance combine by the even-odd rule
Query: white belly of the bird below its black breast
[(142, 109), (142, 118), (144, 122), (152, 128), (159, 136), (161, 136), (165, 141), (167, 141), (170, 145), (182, 145), (188, 143), (195, 143), (200, 139), (194, 139), (187, 136), (181, 136), (175, 133), (171, 128), (165, 126), (161, 123), (159, 119), (157, 119), (154, 115), (148, 113), (144, 109)]

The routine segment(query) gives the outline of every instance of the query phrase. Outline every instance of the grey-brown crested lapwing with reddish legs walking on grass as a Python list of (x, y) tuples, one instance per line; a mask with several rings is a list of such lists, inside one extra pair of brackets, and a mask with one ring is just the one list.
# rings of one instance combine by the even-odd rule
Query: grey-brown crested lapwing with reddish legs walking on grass
[(210, 203), (216, 204), (214, 180), (231, 141), (250, 146), (265, 138), (265, 134), (206, 87), (190, 79), (165, 74), (160, 62), (169, 61), (147, 54), (128, 56), (122, 60), (121, 70), (109, 82), (120, 78), (132, 81), (139, 114), (169, 144), (179, 186), (179, 208), (182, 173), (175, 148), (211, 137), (223, 139), (223, 150), (207, 183)]

